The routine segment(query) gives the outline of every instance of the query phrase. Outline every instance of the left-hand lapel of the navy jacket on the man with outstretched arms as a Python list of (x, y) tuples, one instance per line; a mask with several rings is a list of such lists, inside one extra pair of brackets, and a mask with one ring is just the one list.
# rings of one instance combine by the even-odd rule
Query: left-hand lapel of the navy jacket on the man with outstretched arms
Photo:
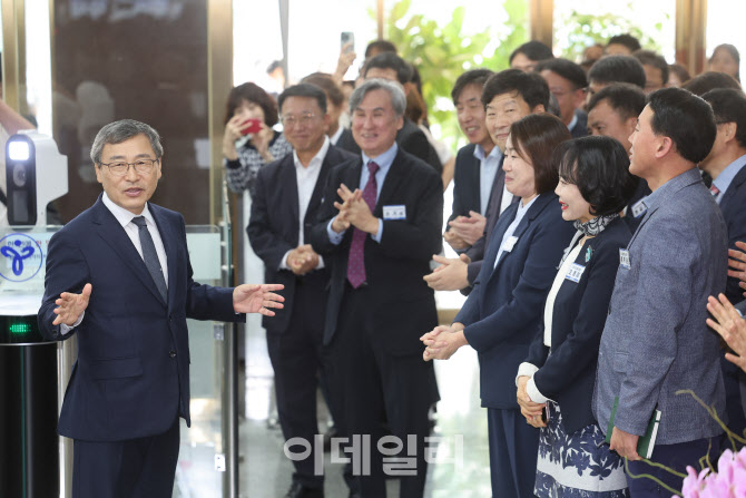
[[(160, 227), (158, 227), (160, 230)], [(129, 238), (125, 228), (119, 224), (117, 218), (104, 205), (101, 197), (94, 205), (94, 230), (96, 233), (111, 247), (111, 250), (121, 258), (121, 261), (132, 271), (135, 276), (145, 285), (148, 291), (164, 305), (163, 297), (156, 287), (153, 277), (148, 272), (143, 257), (135, 248), (135, 244)], [(161, 232), (163, 233), (163, 232)], [(165, 237), (164, 244), (165, 244)], [(168, 255), (168, 252), (166, 253)], [(170, 264), (168, 265), (170, 268)], [(170, 279), (170, 272), (169, 272)]]

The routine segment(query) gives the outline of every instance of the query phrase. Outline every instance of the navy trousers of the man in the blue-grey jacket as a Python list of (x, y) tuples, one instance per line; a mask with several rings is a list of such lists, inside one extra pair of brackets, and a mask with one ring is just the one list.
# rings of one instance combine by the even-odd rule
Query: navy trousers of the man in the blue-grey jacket
[[(711, 438), (709, 457), (713, 465), (717, 465), (717, 459), (720, 456), (719, 439), (719, 437)], [(656, 445), (652, 449), (650, 461), (662, 463), (681, 473), (687, 473), (687, 466), (700, 470), (699, 459), (707, 455), (709, 445), (710, 439), (697, 439), (695, 441), (680, 442), (678, 445)], [(657, 477), (673, 489), (678, 491), (681, 490), (683, 478), (674, 476), (664, 469), (651, 467), (644, 461), (630, 461), (629, 471), (635, 476), (649, 473)], [(648, 478), (631, 478), (627, 475), (627, 486), (629, 486), (631, 498), (670, 498), (671, 496), (670, 491)]]

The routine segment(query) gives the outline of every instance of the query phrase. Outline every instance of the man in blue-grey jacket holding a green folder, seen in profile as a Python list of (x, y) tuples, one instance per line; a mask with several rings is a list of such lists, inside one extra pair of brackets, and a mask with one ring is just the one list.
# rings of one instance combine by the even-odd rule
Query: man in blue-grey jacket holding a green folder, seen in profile
[[(639, 460), (637, 443), (655, 410), (660, 426), (650, 460), (684, 472), (707, 453), (717, 453), (718, 422), (689, 396), (725, 417), (719, 341), (707, 329), (704, 303), (725, 289), (727, 231), (717, 203), (696, 164), (715, 140), (713, 110), (679, 88), (648, 96), (630, 136), (630, 173), (648, 182), (647, 213), (619, 270), (601, 336), (593, 414), (606, 432), (615, 399), (611, 449)], [(669, 486), (680, 478), (642, 461), (634, 475), (651, 473)], [(655, 481), (628, 479), (632, 497), (668, 496)]]

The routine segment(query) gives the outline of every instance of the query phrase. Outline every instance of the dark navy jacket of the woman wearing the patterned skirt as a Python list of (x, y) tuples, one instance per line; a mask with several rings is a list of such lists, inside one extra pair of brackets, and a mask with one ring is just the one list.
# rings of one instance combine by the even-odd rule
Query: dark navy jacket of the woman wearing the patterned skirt
[(598, 348), (619, 267), (619, 250), (627, 247), (631, 236), (625, 222), (617, 218), (586, 241), (575, 260), (586, 268), (580, 282), (563, 280), (554, 297), (551, 355), (547, 358), (549, 348), (542, 330), (526, 360), (539, 368), (533, 381), (539, 392), (560, 404), (569, 434), (596, 421), (591, 400)]

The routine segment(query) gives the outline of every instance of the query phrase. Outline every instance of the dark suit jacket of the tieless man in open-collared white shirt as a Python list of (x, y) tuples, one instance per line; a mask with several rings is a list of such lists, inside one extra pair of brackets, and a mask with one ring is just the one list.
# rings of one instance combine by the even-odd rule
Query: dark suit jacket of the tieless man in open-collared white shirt
[[(311, 244), (311, 228), (318, 216), (328, 172), (334, 166), (354, 159), (354, 157), (333, 145), (326, 152), (316, 186), (308, 202), (305, 219), (303, 219), (305, 244)], [(328, 267), (313, 270), (303, 276), (296, 276), (289, 270), (279, 270), (285, 253), (298, 245), (300, 223), (298, 186), (293, 153), (291, 153), (259, 169), (252, 197), (252, 217), (246, 227), (252, 248), (264, 262), (264, 281), (285, 285), (282, 291), (285, 306), (276, 310), (275, 316), (262, 318), (262, 325), (268, 332), (283, 333), (287, 330), (293, 312), (296, 282), (315, 285), (318, 289), (315, 295), (317, 307), (323, 310), (326, 305)], [(320, 313), (318, 318), (323, 320), (323, 313)]]

